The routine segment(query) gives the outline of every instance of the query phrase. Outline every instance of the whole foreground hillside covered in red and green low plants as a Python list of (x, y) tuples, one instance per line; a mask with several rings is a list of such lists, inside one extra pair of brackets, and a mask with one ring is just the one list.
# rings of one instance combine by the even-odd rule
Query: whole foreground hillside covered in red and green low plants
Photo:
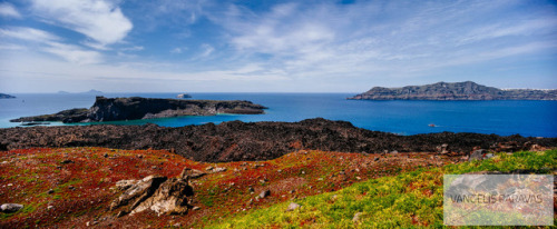
[[(516, 169), (545, 173), (557, 169), (556, 156), (556, 150), (497, 153), (490, 160), (460, 163), (466, 158), (299, 150), (268, 161), (203, 163), (165, 150), (11, 150), (0, 155), (0, 203), (23, 208), (0, 212), (0, 228), (439, 226), (443, 173)], [(123, 193), (116, 189), (118, 181), (176, 177), (184, 168), (206, 173), (189, 180), (195, 195), (185, 215), (145, 211), (118, 217), (109, 209)], [(302, 208), (286, 212), (291, 202)], [(360, 221), (354, 222), (356, 212)]]

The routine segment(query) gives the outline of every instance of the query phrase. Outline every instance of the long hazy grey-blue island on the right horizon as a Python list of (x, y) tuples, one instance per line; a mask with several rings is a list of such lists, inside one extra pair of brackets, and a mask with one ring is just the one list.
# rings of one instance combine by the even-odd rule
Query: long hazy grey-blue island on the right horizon
[(466, 82), (437, 82), (403, 88), (374, 87), (353, 100), (557, 100), (557, 89), (498, 89)]

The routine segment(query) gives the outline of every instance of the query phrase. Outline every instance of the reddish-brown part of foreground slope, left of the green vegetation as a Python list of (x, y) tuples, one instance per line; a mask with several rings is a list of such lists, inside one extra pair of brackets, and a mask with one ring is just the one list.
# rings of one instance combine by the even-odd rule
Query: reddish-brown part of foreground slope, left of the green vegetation
[[(354, 182), (420, 167), (453, 163), (459, 158), (431, 153), (362, 155), (300, 150), (270, 161), (196, 162), (164, 150), (38, 148), (0, 153), (0, 203), (20, 203), (0, 213), (0, 228), (134, 226), (202, 227), (223, 217), (340, 190)], [(214, 170), (206, 170), (207, 168)], [(207, 175), (190, 180), (195, 196), (185, 216), (141, 212), (117, 217), (109, 211), (121, 191), (117, 181), (150, 175), (176, 177), (183, 168)], [(268, 190), (265, 198), (258, 196)]]

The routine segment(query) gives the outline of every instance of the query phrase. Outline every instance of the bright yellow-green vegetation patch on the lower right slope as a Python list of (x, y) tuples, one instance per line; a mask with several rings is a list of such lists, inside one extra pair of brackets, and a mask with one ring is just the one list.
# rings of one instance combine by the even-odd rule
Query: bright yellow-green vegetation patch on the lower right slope
[[(555, 161), (557, 150), (548, 150), (498, 153), (490, 160), (422, 168), (294, 200), (302, 208), (293, 211), (286, 211), (291, 201), (285, 201), (224, 219), (209, 228), (440, 228), (443, 175), (519, 169), (550, 173), (556, 169)], [(354, 220), (356, 213), (359, 219)]]

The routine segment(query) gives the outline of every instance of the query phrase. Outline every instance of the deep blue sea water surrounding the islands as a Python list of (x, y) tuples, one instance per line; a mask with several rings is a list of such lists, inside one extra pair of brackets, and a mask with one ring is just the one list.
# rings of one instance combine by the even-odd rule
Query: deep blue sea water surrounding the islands
[[(175, 98), (177, 93), (105, 93), (105, 97)], [(165, 127), (241, 120), (300, 121), (322, 117), (350, 121), (369, 130), (398, 135), (478, 132), (527, 137), (557, 137), (557, 101), (365, 101), (346, 100), (353, 93), (190, 93), (192, 99), (250, 100), (268, 107), (265, 114), (219, 114), (105, 122), (156, 123)], [(95, 94), (27, 93), (0, 99), (0, 128), (10, 119), (89, 108)], [(52, 122), (51, 125), (62, 125)], [(434, 125), (434, 127), (430, 127)]]

